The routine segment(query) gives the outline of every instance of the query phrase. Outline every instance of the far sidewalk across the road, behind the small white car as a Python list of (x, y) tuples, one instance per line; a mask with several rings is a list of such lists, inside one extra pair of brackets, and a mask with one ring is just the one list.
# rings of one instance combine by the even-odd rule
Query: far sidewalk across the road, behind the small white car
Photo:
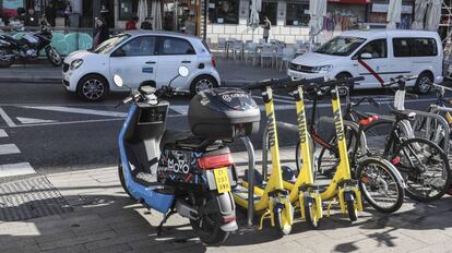
[[(227, 86), (241, 86), (246, 83), (264, 79), (284, 77), (286, 72), (260, 67), (252, 67), (243, 61), (216, 58), (217, 71), (222, 83)], [(0, 69), (0, 83), (61, 83), (61, 68), (51, 67), (47, 61), (29, 64), (14, 64), (11, 68)]]

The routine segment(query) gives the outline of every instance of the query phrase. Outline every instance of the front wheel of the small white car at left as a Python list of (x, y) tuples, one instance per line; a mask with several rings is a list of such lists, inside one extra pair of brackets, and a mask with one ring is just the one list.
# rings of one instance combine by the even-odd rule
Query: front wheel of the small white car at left
[(108, 93), (108, 83), (100, 75), (88, 74), (80, 80), (76, 92), (85, 101), (100, 101)]

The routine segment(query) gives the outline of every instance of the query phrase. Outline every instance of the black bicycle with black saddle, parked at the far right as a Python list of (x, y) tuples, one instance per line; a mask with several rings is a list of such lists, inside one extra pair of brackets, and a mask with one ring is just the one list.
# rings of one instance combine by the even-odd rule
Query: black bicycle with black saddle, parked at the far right
[[(384, 86), (397, 85), (405, 89), (411, 77), (397, 76)], [(415, 137), (409, 122), (415, 112), (393, 109), (392, 121), (382, 120), (368, 124), (364, 131), (373, 154), (381, 155), (402, 173), (406, 195), (420, 202), (441, 198), (451, 184), (451, 168), (447, 154), (430, 140)]]

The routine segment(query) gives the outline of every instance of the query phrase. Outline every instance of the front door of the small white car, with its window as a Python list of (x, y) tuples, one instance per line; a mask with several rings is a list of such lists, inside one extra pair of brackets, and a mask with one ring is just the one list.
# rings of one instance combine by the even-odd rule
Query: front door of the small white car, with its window
[(157, 56), (155, 36), (132, 38), (110, 56), (110, 80), (119, 74), (124, 84), (139, 87), (143, 81), (157, 79)]

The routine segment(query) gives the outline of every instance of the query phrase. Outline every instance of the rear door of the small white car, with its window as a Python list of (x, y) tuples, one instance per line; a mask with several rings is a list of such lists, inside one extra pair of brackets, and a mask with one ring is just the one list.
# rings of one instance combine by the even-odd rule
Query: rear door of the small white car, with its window
[[(158, 76), (157, 87), (168, 85), (178, 75), (178, 69), (185, 65), (190, 73), (197, 68), (197, 53), (188, 39), (171, 36), (158, 36)], [(188, 89), (190, 74), (186, 77), (178, 76), (171, 83), (175, 88)]]

